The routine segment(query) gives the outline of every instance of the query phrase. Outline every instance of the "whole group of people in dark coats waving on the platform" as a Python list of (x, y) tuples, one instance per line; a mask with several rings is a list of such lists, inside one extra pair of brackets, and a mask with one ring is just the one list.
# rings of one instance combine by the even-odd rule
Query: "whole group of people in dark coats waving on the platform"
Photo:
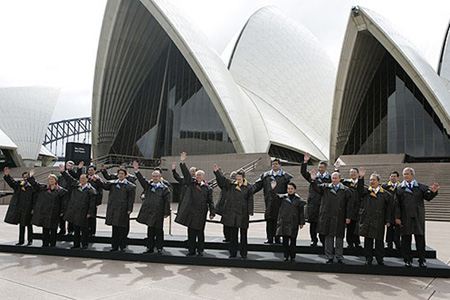
[[(343, 238), (349, 248), (360, 247), (360, 236), (364, 237), (366, 265), (371, 265), (373, 254), (379, 265), (384, 265), (384, 235), (388, 249), (395, 244), (401, 248), (405, 265), (412, 265), (411, 236), (415, 235), (419, 265), (425, 262), (425, 209), (423, 200), (431, 200), (437, 195), (439, 185), (428, 187), (417, 183), (412, 168), (403, 170), (404, 180), (399, 182), (398, 172), (392, 172), (390, 181), (382, 184), (378, 174), (369, 178), (369, 186), (364, 184), (364, 168), (352, 168), (350, 178), (343, 179), (338, 170), (331, 175), (327, 163), (320, 162), (318, 171), (307, 171), (310, 159), (304, 156), (301, 166), (302, 176), (309, 182), (308, 201), (296, 194), (297, 186), (291, 182), (292, 176), (281, 169), (280, 160), (272, 161), (272, 169), (263, 173), (253, 184), (245, 179), (245, 172), (236, 171), (234, 178), (226, 178), (217, 165), (213, 165), (221, 196), (216, 206), (213, 202), (212, 188), (205, 180), (205, 172), (188, 169), (185, 164), (186, 153), (181, 154), (180, 168), (183, 177), (172, 165), (174, 178), (181, 183), (182, 191), (175, 222), (188, 228), (188, 255), (203, 255), (204, 229), (206, 217), (222, 216), (226, 239), (230, 242), (230, 258), (236, 257), (239, 250), (242, 258), (247, 258), (247, 232), (249, 219), (253, 215), (253, 195), (260, 190), (264, 193), (267, 240), (265, 243), (283, 243), (285, 260), (294, 260), (296, 239), (299, 228), (310, 223), (311, 246), (324, 246), (326, 262), (334, 258), (343, 264)], [(77, 172), (73, 163), (66, 167), (60, 165), (59, 177), (51, 174), (47, 184), (38, 184), (33, 171), (22, 174), (22, 181), (15, 181), (5, 168), (5, 180), (14, 189), (14, 196), (8, 208), (5, 222), (19, 224), (19, 242), (24, 243), (25, 228), (28, 229), (28, 245), (32, 243), (32, 225), (43, 227), (43, 246), (55, 246), (57, 227), (60, 233), (74, 232), (72, 248), (87, 248), (89, 235), (95, 234), (97, 206), (101, 204), (102, 190), (109, 191), (106, 211), (106, 224), (112, 226), (111, 251), (125, 251), (129, 232), (129, 219), (135, 198), (135, 182), (144, 188), (141, 196), (143, 204), (137, 222), (146, 224), (147, 251), (158, 253), (163, 248), (163, 222), (170, 214), (169, 183), (161, 176), (160, 170), (152, 173), (146, 180), (139, 171), (137, 162), (133, 163), (135, 176), (121, 166), (117, 174), (108, 174), (102, 165), (106, 180), (96, 175), (95, 166), (87, 168), (82, 174), (82, 164)], [(339, 168), (339, 164), (335, 164)], [(306, 213), (304, 207), (306, 206)], [(238, 235), (240, 234), (240, 243)], [(400, 239), (401, 236), (401, 239)], [(401, 244), (400, 244), (401, 240)], [(375, 252), (373, 247), (375, 244)], [(239, 249), (240, 246), (240, 249)]]

